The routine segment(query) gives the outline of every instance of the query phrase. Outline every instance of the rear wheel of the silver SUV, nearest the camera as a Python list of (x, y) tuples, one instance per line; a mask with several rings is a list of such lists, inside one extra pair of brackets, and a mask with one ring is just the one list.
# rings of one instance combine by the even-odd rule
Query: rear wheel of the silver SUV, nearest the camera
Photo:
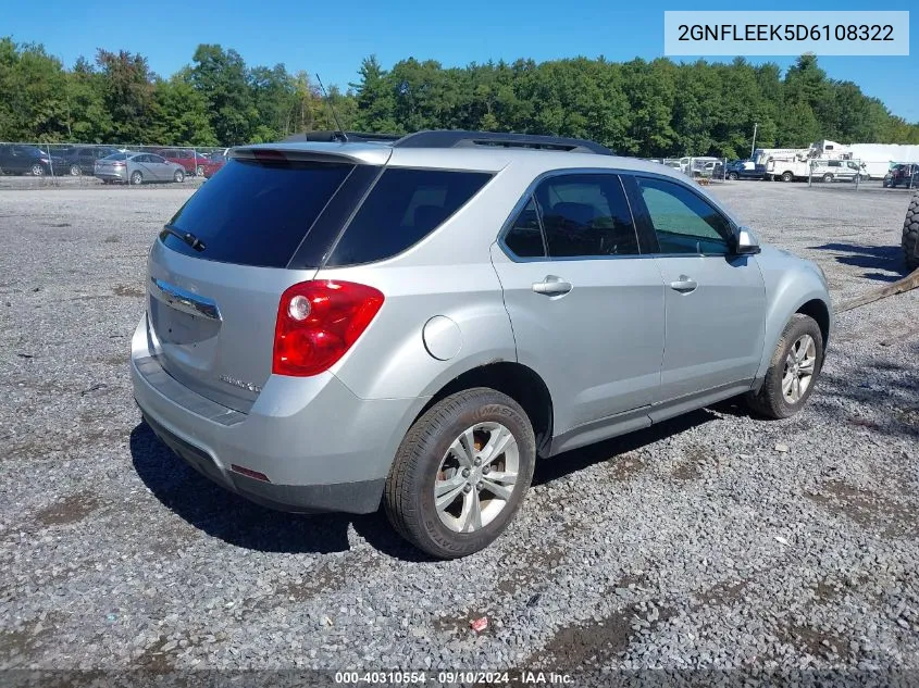
[(533, 426), (513, 399), (486, 387), (450, 395), (406, 434), (386, 479), (386, 515), (420, 550), (467, 556), (513, 518), (535, 460)]

